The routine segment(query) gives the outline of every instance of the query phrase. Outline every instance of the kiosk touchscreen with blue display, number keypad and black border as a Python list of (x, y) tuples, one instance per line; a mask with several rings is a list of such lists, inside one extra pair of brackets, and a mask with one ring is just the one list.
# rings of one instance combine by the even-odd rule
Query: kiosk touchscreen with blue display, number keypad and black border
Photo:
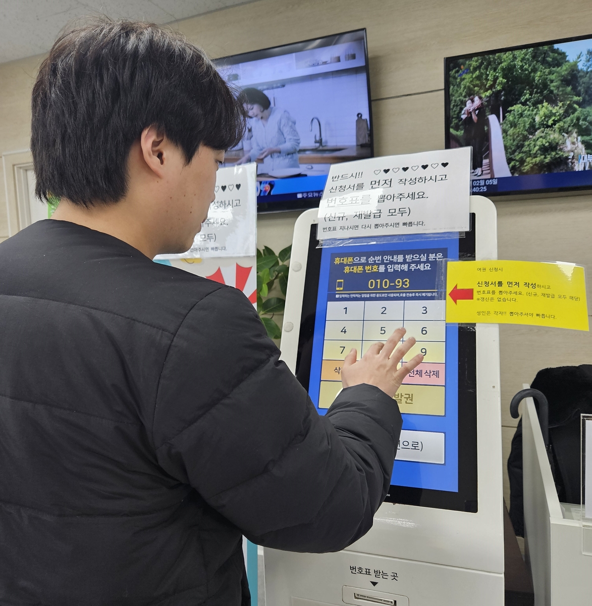
[(424, 362), (395, 395), (403, 430), (387, 501), (476, 511), (475, 327), (446, 324), (437, 290), (439, 259), (474, 258), (474, 228), (461, 237), (317, 248), (315, 227), (298, 379), (324, 415), (352, 347), (363, 355), (405, 327), (417, 343), (404, 361), (423, 353)]

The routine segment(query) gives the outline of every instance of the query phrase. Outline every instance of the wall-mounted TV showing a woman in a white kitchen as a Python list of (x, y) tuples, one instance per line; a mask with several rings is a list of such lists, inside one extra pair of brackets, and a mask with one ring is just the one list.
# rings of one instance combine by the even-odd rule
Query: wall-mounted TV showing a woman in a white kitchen
[(331, 164), (373, 155), (365, 29), (214, 64), (249, 114), (224, 165), (257, 162), (259, 211), (318, 206)]

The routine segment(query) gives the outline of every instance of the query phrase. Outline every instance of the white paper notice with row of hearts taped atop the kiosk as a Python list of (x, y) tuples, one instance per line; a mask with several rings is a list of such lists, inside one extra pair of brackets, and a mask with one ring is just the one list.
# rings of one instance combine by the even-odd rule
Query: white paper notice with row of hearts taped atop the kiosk
[(332, 164), (317, 238), (469, 230), (471, 148)]

